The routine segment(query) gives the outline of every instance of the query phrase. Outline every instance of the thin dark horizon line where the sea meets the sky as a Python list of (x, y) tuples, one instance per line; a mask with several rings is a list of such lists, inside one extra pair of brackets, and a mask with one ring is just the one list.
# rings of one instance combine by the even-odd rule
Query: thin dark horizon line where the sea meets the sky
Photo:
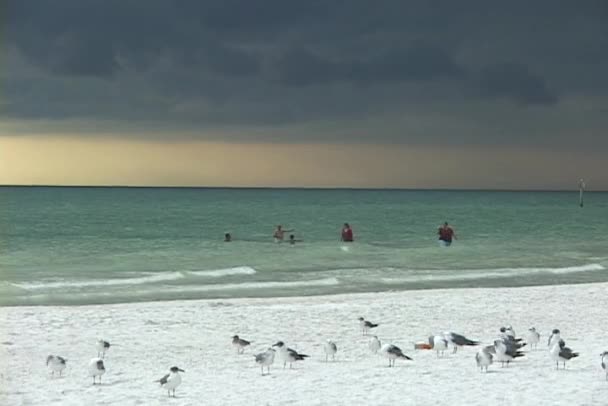
[[(348, 187), (348, 186), (187, 186), (187, 185), (24, 185), (24, 184), (0, 184), (0, 188), (80, 188), (80, 189), (249, 189), (249, 190), (360, 190), (360, 191), (444, 191), (444, 192), (578, 192), (578, 188), (572, 189), (509, 189), (509, 188), (424, 188), (424, 187)], [(608, 190), (586, 189), (589, 193), (606, 193)]]

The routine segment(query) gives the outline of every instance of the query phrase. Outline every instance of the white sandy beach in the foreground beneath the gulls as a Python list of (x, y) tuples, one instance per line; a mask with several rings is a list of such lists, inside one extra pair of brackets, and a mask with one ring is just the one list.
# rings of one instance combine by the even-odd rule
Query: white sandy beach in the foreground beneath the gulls
[[(608, 350), (608, 284), (452, 289), (280, 299), (231, 299), (78, 307), (0, 308), (2, 405), (606, 405), (599, 354)], [(368, 352), (357, 318), (380, 323), (376, 334), (414, 358), (395, 368)], [(535, 326), (537, 351), (509, 368), (480, 373), (475, 348), (437, 359), (414, 351), (430, 332), (459, 332), (489, 344), (502, 325), (518, 335)], [(555, 370), (547, 334), (559, 328), (580, 357)], [(243, 355), (231, 346), (252, 341)], [(97, 338), (113, 346), (102, 385), (88, 361)], [(325, 363), (333, 339), (338, 360)], [(311, 358), (261, 376), (252, 354), (277, 340)], [(49, 354), (68, 359), (61, 378)], [(186, 372), (177, 398), (155, 380), (169, 367)]]

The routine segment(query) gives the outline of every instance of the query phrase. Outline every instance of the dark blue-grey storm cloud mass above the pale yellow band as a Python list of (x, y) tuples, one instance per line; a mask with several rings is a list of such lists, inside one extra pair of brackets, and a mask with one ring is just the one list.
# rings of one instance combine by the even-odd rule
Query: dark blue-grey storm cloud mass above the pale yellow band
[(604, 1), (5, 3), (4, 120), (433, 143), (608, 124)]

